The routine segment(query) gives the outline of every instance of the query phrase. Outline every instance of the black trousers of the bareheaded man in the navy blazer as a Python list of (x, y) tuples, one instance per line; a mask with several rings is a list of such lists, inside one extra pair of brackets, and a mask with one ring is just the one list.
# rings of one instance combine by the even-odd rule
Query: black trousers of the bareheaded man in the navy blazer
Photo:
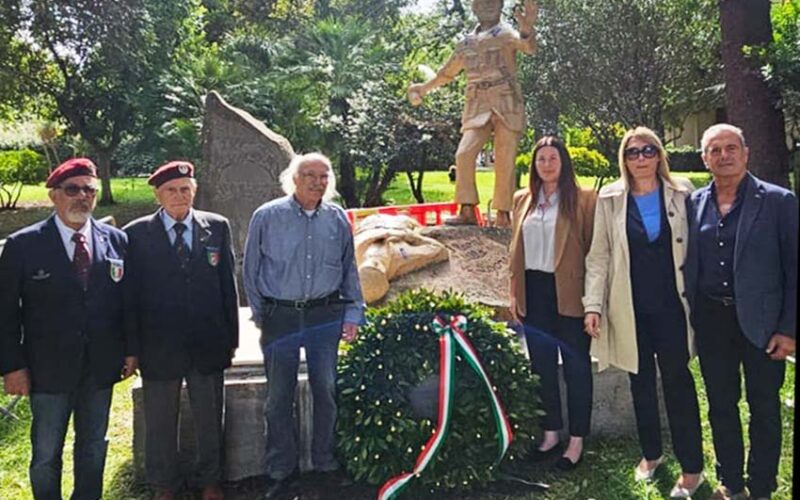
[(699, 296), (694, 311), (700, 368), (708, 394), (717, 478), (728, 489), (744, 484), (744, 439), (739, 419), (741, 367), (750, 408), (747, 487), (753, 498), (769, 498), (781, 455), (780, 389), (786, 365), (773, 361), (744, 336), (736, 306)]

